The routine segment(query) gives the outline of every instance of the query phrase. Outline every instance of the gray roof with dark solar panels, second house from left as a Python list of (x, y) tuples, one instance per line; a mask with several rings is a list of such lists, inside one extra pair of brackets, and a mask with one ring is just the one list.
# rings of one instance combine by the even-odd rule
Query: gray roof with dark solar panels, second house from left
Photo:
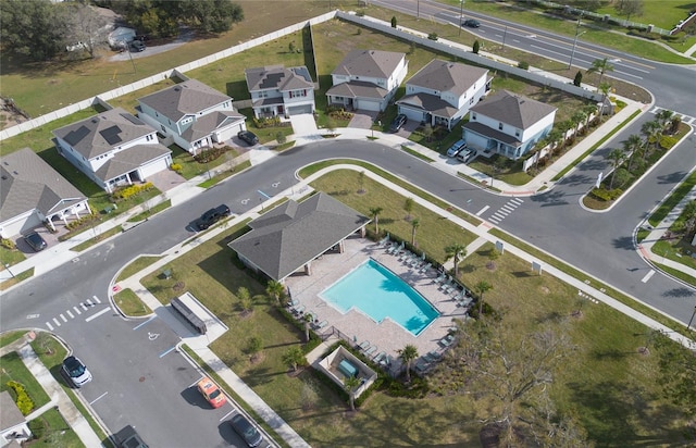
[(115, 108), (60, 127), (53, 130), (53, 135), (65, 140), (85, 158), (92, 159), (153, 132), (137, 116)]

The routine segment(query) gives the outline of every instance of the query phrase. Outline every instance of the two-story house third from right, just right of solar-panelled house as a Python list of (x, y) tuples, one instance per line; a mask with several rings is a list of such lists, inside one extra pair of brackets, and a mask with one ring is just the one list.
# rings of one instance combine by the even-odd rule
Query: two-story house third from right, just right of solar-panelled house
[(405, 53), (352, 50), (331, 74), (328, 104), (384, 111), (408, 71)]

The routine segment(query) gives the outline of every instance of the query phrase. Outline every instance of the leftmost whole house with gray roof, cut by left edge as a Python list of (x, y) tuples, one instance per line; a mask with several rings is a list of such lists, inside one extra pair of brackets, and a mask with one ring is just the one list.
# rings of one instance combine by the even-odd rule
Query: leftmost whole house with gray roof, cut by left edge
[(87, 198), (29, 148), (0, 159), (0, 235), (10, 238), (53, 221), (89, 214)]

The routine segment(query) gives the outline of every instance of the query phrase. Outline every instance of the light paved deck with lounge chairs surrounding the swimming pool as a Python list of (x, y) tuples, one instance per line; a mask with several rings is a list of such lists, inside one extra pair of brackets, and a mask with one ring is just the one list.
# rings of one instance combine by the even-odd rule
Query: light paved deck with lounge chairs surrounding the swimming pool
[[(355, 309), (343, 314), (320, 297), (320, 293), (369, 258), (376, 260), (401, 277), (440, 313), (418, 336), (389, 319), (385, 319), (378, 324)], [(331, 333), (333, 326), (347, 337), (352, 338), (352, 344), (356, 346), (365, 340), (370, 343), (370, 346), (375, 346), (376, 348), (371, 353), (372, 357), (384, 351), (393, 360), (398, 360), (397, 350), (408, 344), (415, 346), (421, 356), (428, 351), (443, 351), (439, 340), (446, 337), (455, 326), (452, 319), (465, 316), (465, 309), (458, 307), (457, 301), (450, 295), (445, 295), (438, 289), (438, 284), (435, 282), (438, 273), (433, 269), (420, 273), (419, 270), (410, 267), (399, 261), (398, 256), (387, 253), (385, 246), (380, 246), (366, 238), (352, 236), (345, 240), (343, 253), (324, 254), (314, 260), (312, 275), (297, 273), (287, 277), (285, 283), (290, 289), (293, 299), (304, 306), (306, 313), (312, 313), (319, 322), (324, 320), (328, 322), (320, 333)]]

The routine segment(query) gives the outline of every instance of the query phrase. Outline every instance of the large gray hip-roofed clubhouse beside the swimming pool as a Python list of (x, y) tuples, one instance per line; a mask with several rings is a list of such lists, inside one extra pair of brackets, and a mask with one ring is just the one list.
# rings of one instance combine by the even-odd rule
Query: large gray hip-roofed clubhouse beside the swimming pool
[(289, 200), (251, 221), (251, 231), (228, 247), (251, 270), (283, 282), (288, 275), (311, 275), (312, 261), (344, 250), (344, 239), (360, 232), (370, 219), (319, 192), (302, 202)]

